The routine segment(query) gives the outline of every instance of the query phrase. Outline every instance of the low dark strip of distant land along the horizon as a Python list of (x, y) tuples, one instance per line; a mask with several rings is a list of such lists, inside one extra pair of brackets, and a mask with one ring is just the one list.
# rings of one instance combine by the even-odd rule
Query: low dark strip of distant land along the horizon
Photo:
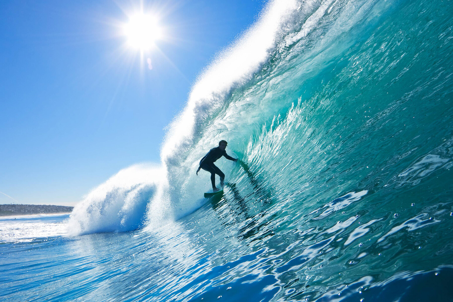
[(24, 216), (35, 214), (67, 214), (71, 213), (73, 206), (53, 205), (0, 205), (1, 216)]

